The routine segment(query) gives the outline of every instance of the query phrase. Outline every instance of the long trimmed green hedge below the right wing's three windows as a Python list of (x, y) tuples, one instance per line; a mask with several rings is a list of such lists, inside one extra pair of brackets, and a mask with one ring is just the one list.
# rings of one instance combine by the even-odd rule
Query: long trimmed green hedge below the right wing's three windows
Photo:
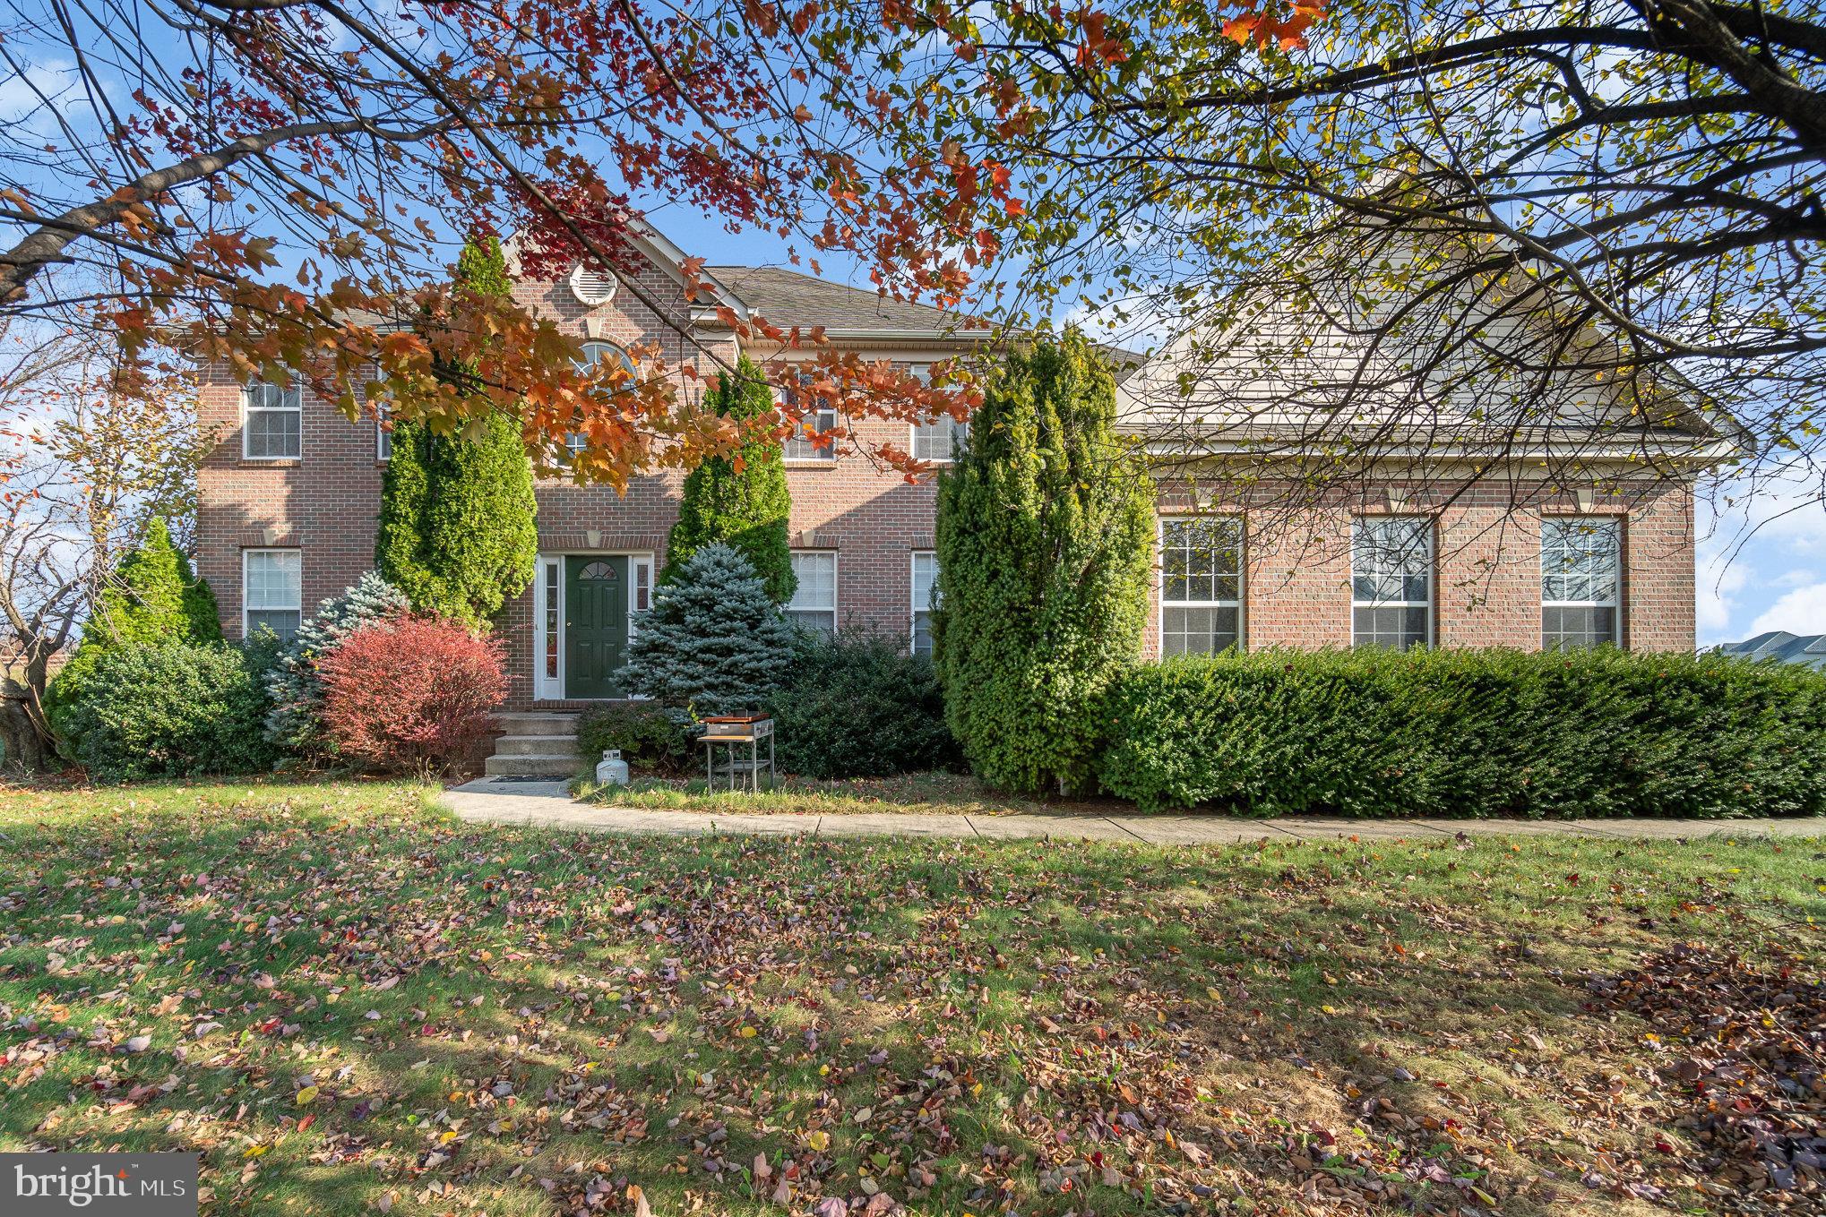
[(1826, 812), (1826, 675), (1716, 655), (1254, 651), (1138, 666), (1103, 786), (1258, 816)]

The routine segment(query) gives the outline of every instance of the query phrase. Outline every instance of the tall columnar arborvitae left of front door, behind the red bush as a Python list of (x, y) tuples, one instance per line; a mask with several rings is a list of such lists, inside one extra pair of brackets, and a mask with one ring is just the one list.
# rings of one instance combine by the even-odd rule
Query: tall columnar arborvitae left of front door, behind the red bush
[[(498, 241), (464, 246), (456, 290), (509, 290)], [(473, 374), (464, 365), (438, 367), (447, 381)], [(533, 469), (515, 418), (495, 414), (473, 436), (402, 420), (393, 427), (393, 456), (382, 476), (374, 564), (413, 608), (486, 626), (533, 580), (537, 509)]]

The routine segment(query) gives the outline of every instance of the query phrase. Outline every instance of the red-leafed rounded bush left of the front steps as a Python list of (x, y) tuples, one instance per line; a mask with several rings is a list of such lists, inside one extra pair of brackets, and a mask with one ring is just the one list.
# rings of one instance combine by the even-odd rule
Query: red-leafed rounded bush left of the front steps
[(431, 774), (477, 759), (508, 695), (502, 648), (442, 617), (362, 626), (318, 659), (323, 726), (376, 768)]

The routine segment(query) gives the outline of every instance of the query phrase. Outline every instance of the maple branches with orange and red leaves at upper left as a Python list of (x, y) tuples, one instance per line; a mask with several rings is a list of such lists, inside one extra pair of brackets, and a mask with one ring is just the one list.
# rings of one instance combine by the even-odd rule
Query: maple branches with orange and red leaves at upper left
[[(460, 427), (511, 411), (535, 454), (582, 436), (581, 480), (624, 485), (736, 445), (741, 427), (679, 390), (681, 370), (716, 369), (690, 343), (688, 369), (657, 343), (632, 352), (634, 376), (581, 367), (553, 319), (451, 288), (462, 237), (513, 234), (522, 274), (582, 261), (668, 317), (634, 274), (639, 193), (942, 305), (995, 252), (979, 213), (1013, 203), (953, 151), (869, 159), (897, 117), (849, 93), (834, 42), (811, 47), (816, 4), (42, 0), (18, 16), (0, 40), (27, 97), (0, 128), (4, 316), (69, 305), (46, 272), (75, 263), (130, 369), (164, 343), (237, 376), (299, 376), (351, 416), (385, 401)], [(692, 294), (701, 268), (676, 268)], [(816, 348), (792, 381), (807, 409), (968, 405), (816, 334), (721, 316)], [(440, 381), (438, 365), (475, 376)]]

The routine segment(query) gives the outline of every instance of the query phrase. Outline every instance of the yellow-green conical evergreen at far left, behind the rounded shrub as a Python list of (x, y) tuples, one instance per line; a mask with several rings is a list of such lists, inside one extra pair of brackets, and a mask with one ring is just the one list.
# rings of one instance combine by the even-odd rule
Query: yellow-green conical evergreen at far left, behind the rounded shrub
[(215, 593), (190, 569), (190, 560), (172, 544), (164, 520), (153, 516), (139, 547), (128, 551), (113, 578), (95, 598), (82, 624), (82, 640), (46, 690), (44, 710), (69, 754), (75, 746), (71, 708), (100, 657), (126, 644), (175, 646), (221, 642), (223, 624)]

